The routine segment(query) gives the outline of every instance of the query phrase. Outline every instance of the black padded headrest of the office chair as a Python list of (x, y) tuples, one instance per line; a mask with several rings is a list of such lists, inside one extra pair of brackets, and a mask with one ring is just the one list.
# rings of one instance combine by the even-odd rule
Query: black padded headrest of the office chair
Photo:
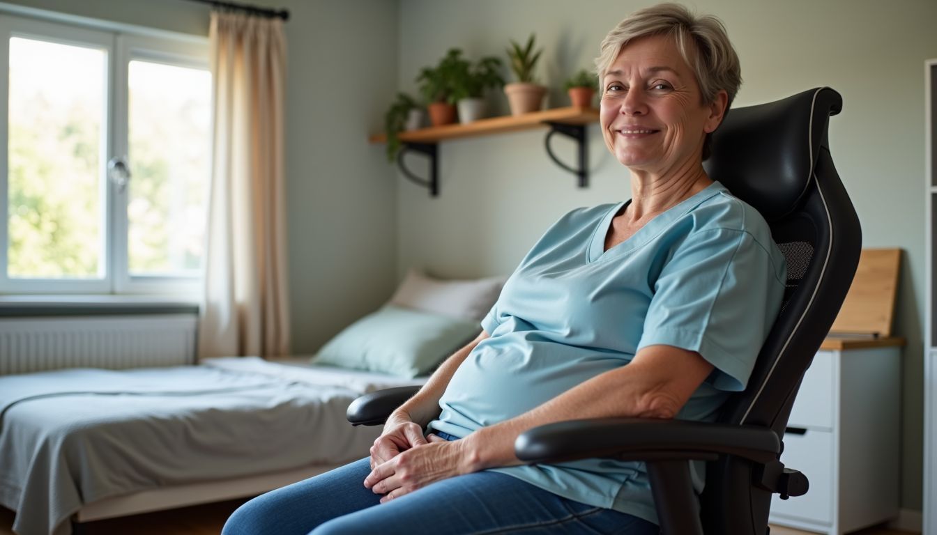
[(810, 183), (830, 115), (842, 97), (828, 87), (730, 110), (713, 133), (704, 167), (772, 223), (794, 211)]

